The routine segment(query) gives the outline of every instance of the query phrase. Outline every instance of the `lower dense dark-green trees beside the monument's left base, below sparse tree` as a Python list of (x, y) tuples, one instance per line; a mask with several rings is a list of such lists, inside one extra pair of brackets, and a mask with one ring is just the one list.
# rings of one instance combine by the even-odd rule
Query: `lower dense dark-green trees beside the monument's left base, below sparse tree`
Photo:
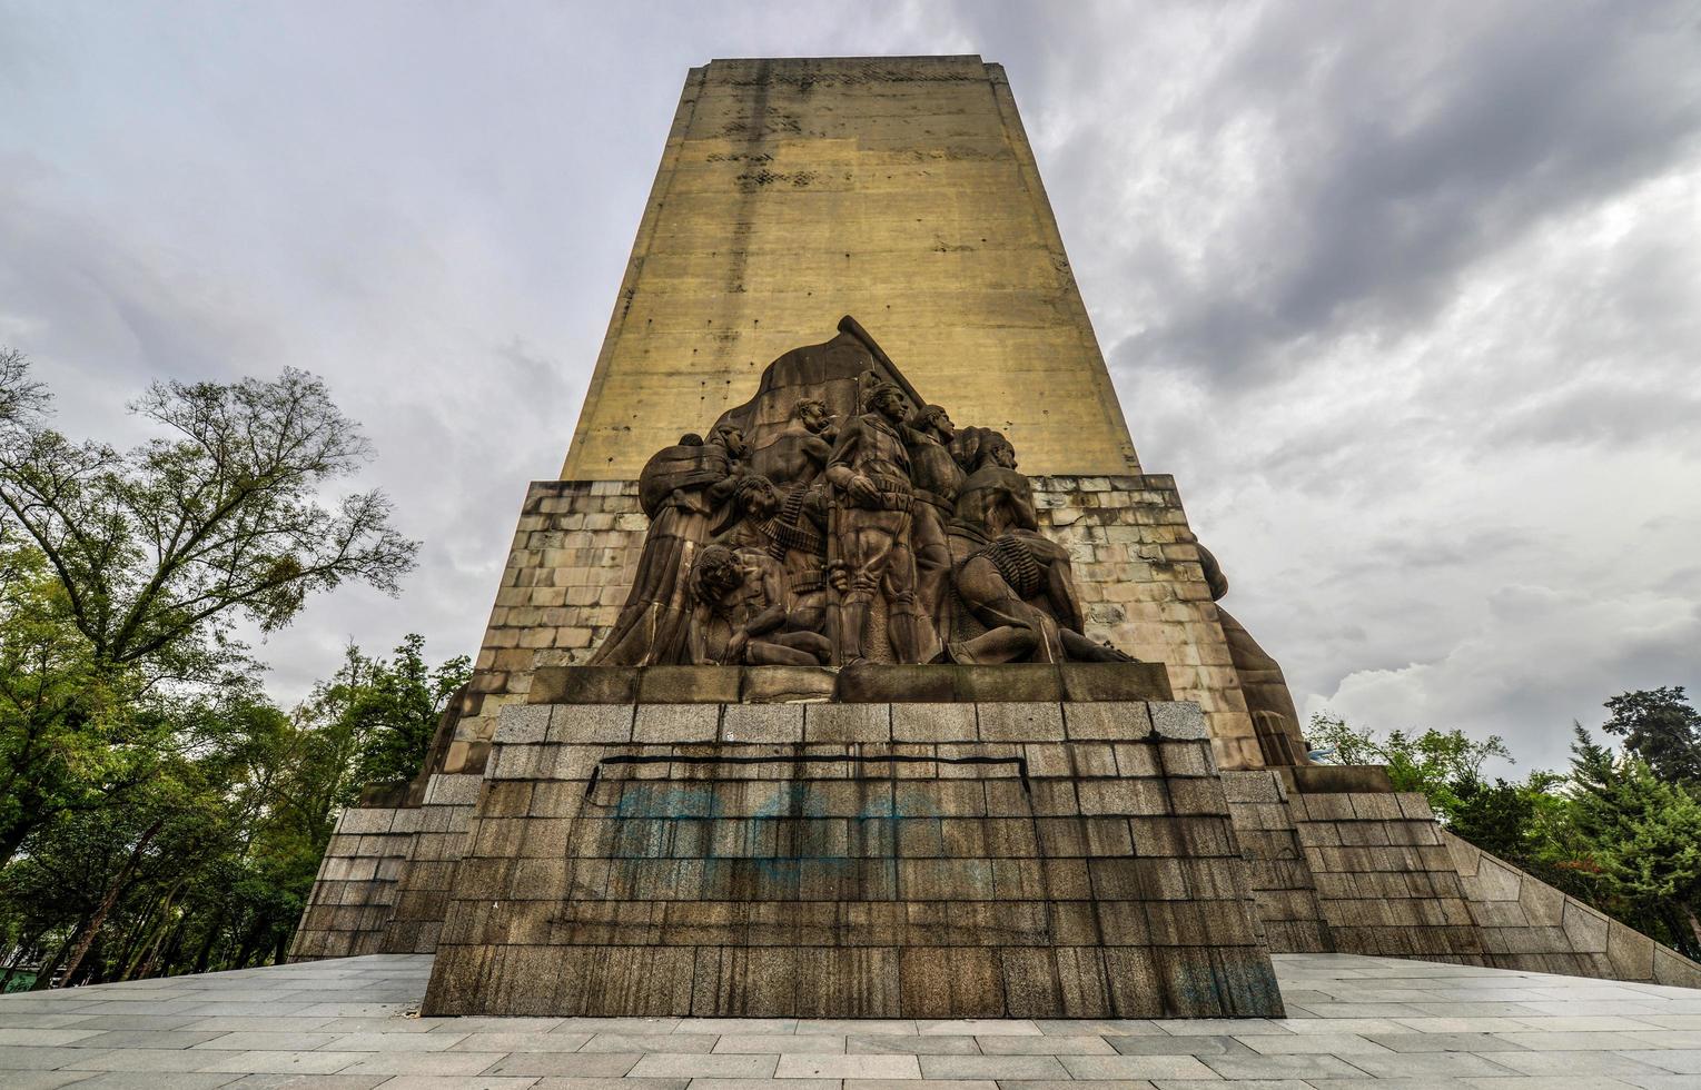
[(293, 716), (253, 678), (158, 704), (124, 804), (61, 811), (0, 871), (0, 973), (41, 966), (53, 986), (282, 961), (338, 809), (418, 772), (468, 673), (408, 636), (388, 658), (350, 648)]

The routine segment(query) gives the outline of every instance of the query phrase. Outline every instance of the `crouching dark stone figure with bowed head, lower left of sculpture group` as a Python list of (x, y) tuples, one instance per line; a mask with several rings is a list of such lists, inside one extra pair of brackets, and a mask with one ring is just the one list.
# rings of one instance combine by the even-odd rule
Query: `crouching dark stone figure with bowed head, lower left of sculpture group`
[(696, 665), (818, 667), (827, 636), (788, 610), (784, 565), (764, 549), (711, 544), (691, 570), (691, 661)]

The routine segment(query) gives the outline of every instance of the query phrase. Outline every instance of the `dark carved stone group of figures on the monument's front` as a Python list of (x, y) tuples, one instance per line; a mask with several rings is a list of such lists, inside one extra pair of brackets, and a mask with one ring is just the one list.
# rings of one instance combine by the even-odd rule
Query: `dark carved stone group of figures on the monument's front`
[(1070, 556), (1039, 532), (1009, 439), (874, 367), (816, 383), (854, 393), (835, 417), (774, 367), (745, 415), (789, 412), (759, 449), (728, 413), (645, 466), (650, 531), (594, 663), (1131, 661), (1082, 633)]

